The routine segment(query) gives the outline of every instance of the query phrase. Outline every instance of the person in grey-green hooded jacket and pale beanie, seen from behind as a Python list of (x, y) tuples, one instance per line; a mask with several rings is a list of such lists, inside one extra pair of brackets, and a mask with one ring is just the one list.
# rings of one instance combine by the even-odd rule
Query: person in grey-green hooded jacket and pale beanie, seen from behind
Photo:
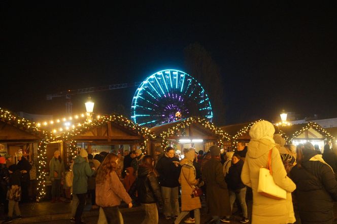
[(73, 194), (76, 194), (79, 200), (75, 214), (76, 223), (82, 223), (81, 215), (85, 205), (85, 197), (88, 192), (88, 176), (92, 176), (95, 172), (94, 167), (90, 168), (87, 157), (87, 151), (82, 148), (80, 155), (74, 159)]

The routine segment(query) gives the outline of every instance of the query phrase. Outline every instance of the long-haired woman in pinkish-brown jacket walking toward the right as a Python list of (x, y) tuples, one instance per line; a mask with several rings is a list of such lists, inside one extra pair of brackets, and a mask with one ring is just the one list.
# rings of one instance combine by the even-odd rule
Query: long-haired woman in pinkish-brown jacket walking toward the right
[(122, 224), (123, 217), (118, 209), (120, 201), (123, 200), (131, 208), (132, 200), (116, 173), (117, 160), (117, 155), (110, 153), (97, 169), (96, 204), (104, 210), (108, 223)]

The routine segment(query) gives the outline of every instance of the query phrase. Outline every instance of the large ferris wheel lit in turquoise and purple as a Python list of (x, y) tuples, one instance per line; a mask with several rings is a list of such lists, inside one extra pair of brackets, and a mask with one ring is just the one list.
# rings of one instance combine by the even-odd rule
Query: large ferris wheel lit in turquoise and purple
[(212, 106), (200, 83), (183, 71), (152, 74), (132, 99), (131, 120), (139, 125), (153, 127), (192, 116), (212, 121)]

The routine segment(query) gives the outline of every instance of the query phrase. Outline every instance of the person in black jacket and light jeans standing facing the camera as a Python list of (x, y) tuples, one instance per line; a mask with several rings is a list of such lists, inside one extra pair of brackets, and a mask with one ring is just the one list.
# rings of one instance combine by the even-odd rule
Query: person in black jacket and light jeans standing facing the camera
[(158, 161), (156, 170), (159, 173), (161, 195), (164, 199), (163, 213), (165, 219), (176, 218), (179, 215), (179, 159), (175, 157), (173, 147), (165, 149), (164, 156)]

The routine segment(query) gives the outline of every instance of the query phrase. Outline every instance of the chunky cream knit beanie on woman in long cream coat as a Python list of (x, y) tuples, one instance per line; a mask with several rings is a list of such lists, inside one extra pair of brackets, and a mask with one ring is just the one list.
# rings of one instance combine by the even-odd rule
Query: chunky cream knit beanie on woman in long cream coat
[(273, 139), (273, 135), (275, 132), (275, 128), (272, 123), (268, 121), (259, 121), (256, 122), (249, 130), (249, 135), (251, 138), (255, 138), (257, 140), (260, 139), (268, 139), (275, 143)]

